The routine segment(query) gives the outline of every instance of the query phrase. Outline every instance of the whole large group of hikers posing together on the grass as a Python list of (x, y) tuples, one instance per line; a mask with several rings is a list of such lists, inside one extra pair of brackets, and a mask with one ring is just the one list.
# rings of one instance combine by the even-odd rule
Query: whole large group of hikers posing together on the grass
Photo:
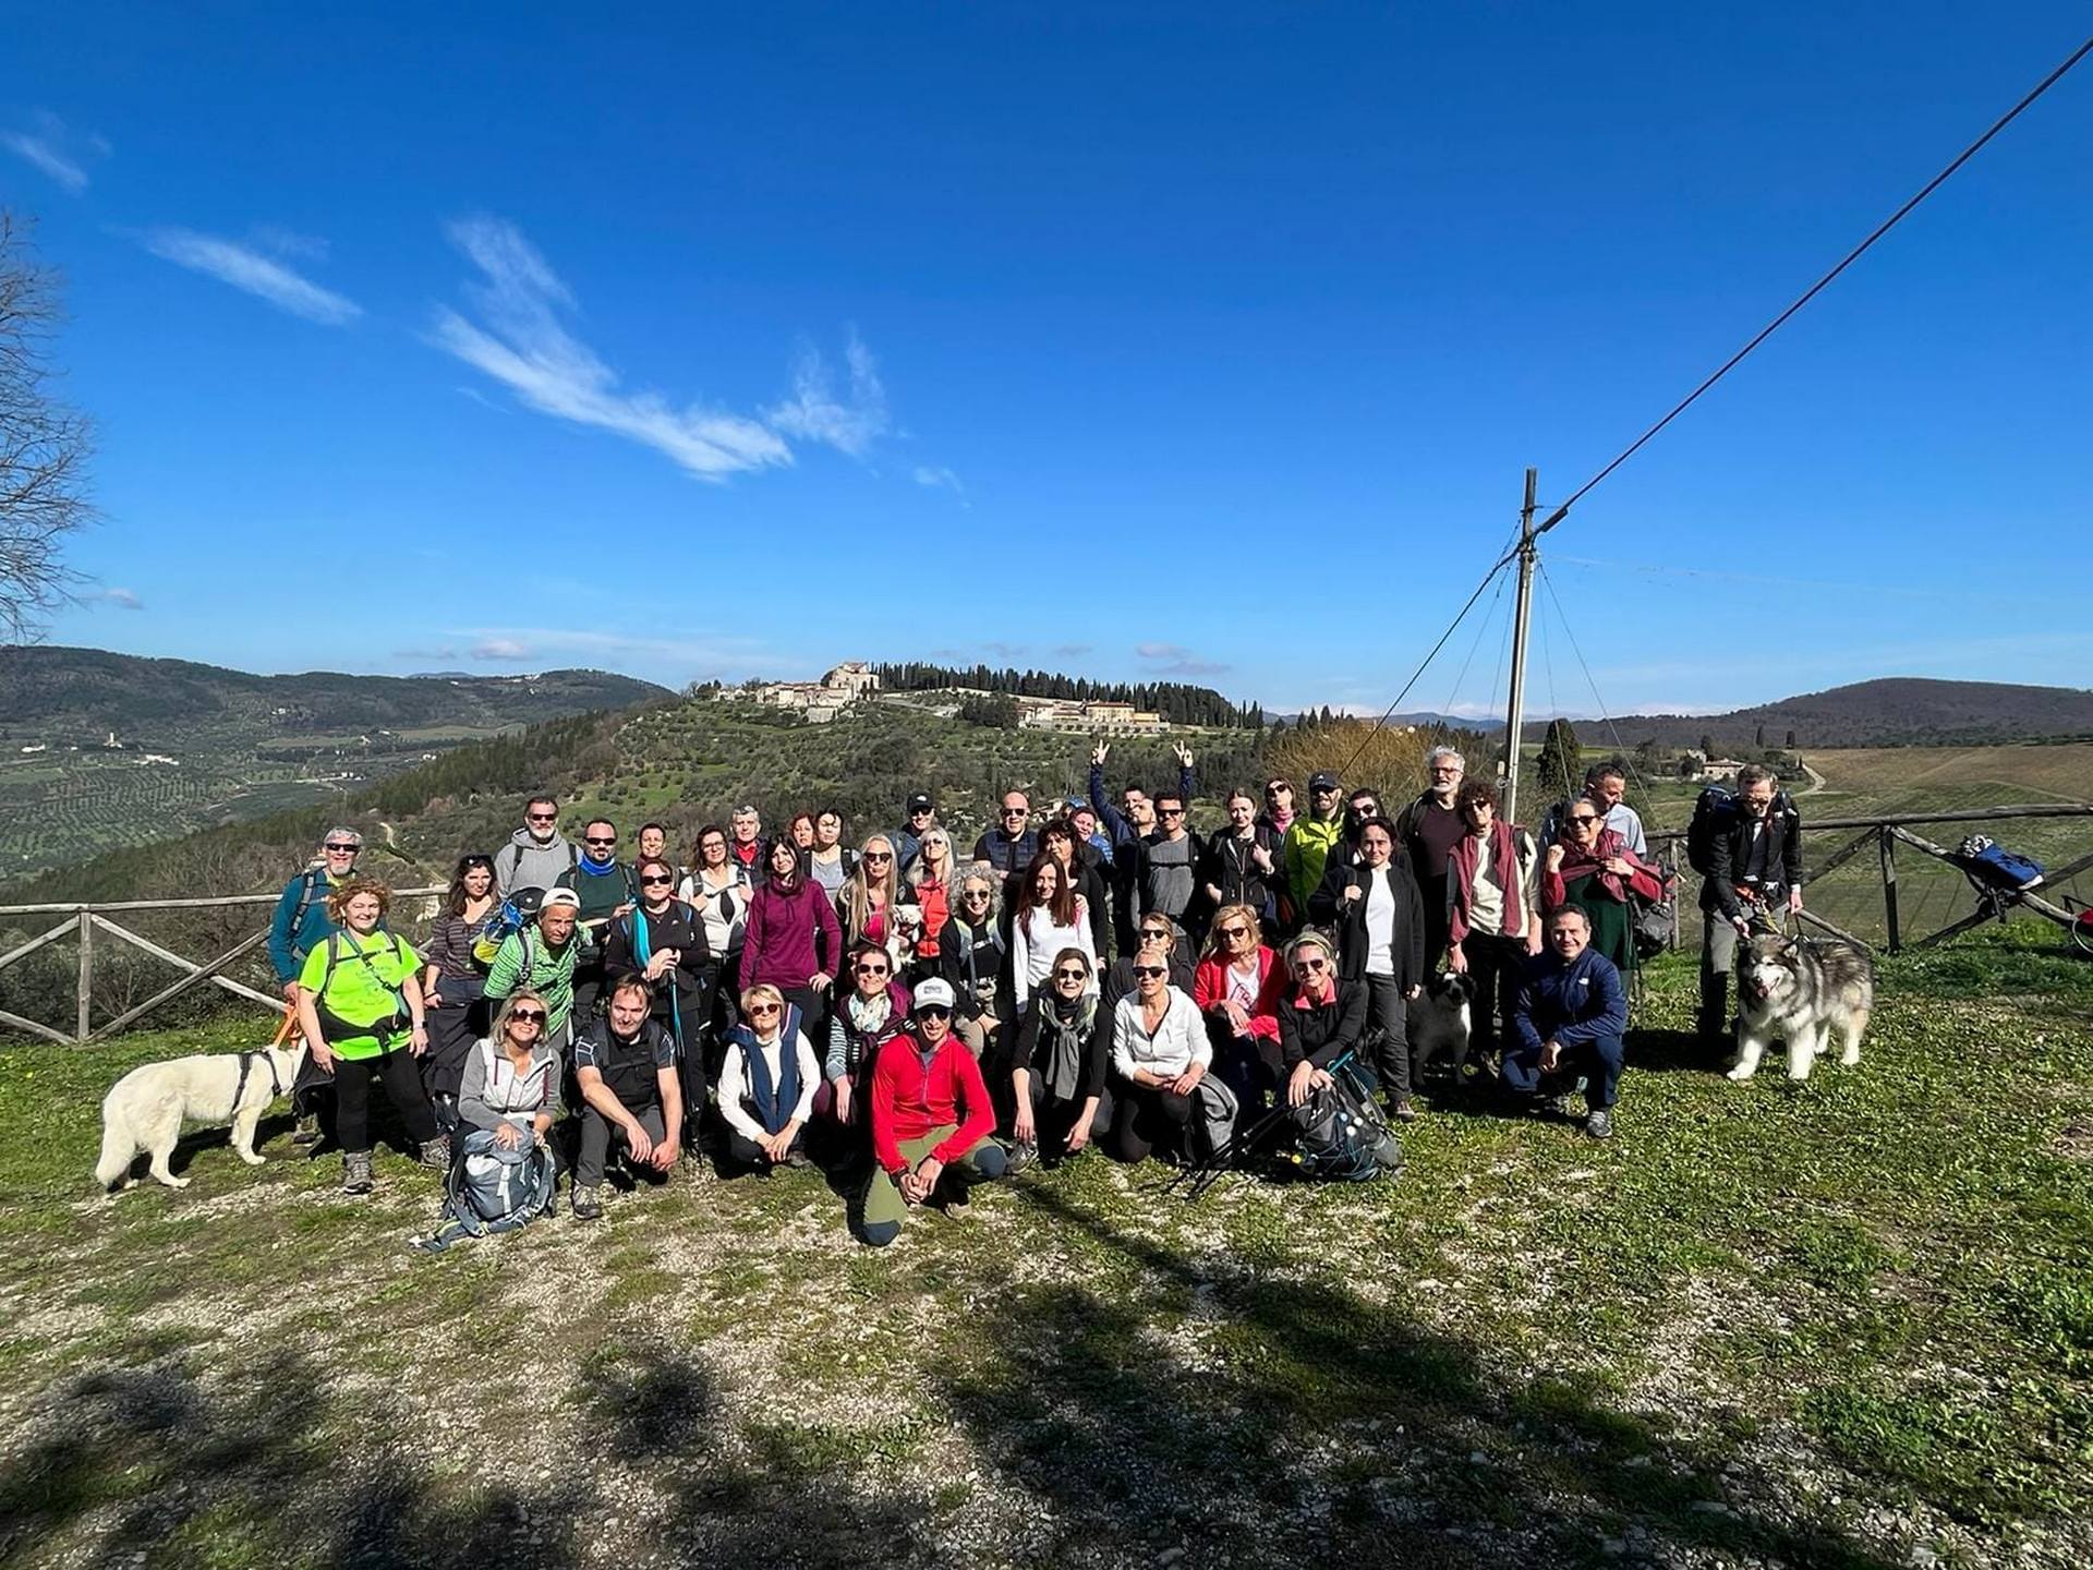
[[(1582, 1093), (1584, 1130), (1612, 1135), (1633, 913), (1666, 892), (1618, 768), (1538, 835), (1434, 747), (1394, 814), (1319, 770), (1304, 802), (1283, 777), (1231, 789), (1201, 837), (1176, 756), (1174, 781), (1111, 802), (1101, 743), (1084, 798), (1009, 791), (967, 856), (929, 791), (856, 844), (833, 810), (766, 837), (741, 806), (684, 862), (659, 823), (630, 860), (609, 818), (569, 839), (536, 795), (502, 846), (456, 860), (419, 948), (358, 873), (362, 837), (331, 829), (270, 934), (310, 1045), (295, 1137), (331, 1139), (343, 1187), (368, 1191), (381, 1093), (429, 1166), (546, 1151), (584, 1220), (613, 1168), (816, 1162), (858, 1174), (879, 1246), (915, 1206), (1093, 1145), (1210, 1162), (1340, 1063), (1415, 1118), (1409, 1022), (1446, 975), (1465, 978), (1465, 1093)], [(1802, 898), (1792, 804), (1764, 770), (1737, 802), (1700, 898), (1710, 1034), (1739, 938)]]

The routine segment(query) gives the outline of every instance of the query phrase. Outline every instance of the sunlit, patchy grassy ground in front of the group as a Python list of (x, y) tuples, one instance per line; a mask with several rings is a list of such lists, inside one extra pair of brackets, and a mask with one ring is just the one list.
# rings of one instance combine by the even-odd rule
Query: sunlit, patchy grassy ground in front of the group
[(1804, 1086), (1691, 986), (1610, 1145), (1434, 1109), (1197, 1208), (1088, 1156), (883, 1254), (684, 1172), (425, 1258), (423, 1172), (283, 1124), (96, 1197), (100, 1091), (224, 1032), (0, 1053), (0, 1564), (2085, 1564), (2093, 965), (1896, 961)]

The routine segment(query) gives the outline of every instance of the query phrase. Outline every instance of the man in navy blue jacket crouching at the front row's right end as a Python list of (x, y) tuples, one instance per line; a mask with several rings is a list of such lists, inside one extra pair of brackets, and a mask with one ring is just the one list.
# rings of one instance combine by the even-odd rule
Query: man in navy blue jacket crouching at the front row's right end
[(1614, 1132), (1628, 999), (1614, 961), (1591, 946), (1591, 917), (1574, 904), (1549, 915), (1547, 944), (1526, 963), (1511, 1011), (1517, 1040), (1505, 1051), (1505, 1089), (1517, 1109), (1566, 1080), (1584, 1082), (1584, 1132)]

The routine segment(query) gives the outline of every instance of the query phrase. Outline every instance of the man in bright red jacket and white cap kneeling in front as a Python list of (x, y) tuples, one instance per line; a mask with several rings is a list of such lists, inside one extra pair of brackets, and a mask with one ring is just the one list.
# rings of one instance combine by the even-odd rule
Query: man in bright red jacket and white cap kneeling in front
[(873, 1063), (873, 1168), (864, 1191), (864, 1241), (885, 1248), (908, 1206), (929, 1204), (940, 1183), (971, 1185), (1005, 1174), (1003, 1145), (988, 1135), (996, 1112), (973, 1053), (952, 1034), (952, 986), (931, 975), (915, 990), (910, 1028)]

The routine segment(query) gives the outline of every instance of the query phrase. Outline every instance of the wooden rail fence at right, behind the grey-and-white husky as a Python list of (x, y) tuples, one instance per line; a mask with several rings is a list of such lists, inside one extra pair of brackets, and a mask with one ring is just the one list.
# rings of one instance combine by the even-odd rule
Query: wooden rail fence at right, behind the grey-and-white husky
[[(1869, 816), (1856, 816), (1856, 818), (1810, 818), (1808, 812), (1804, 810), (1804, 814), (1802, 814), (1804, 842), (1810, 835), (1856, 831), (1856, 833), (1852, 833), (1852, 837), (1842, 839), (1838, 844), (1838, 848), (1831, 850), (1825, 856), (1817, 856), (1817, 854), (1808, 854), (1808, 852), (1804, 854), (1804, 858), (1802, 858), (1802, 871), (1804, 871), (1804, 879), (1806, 879), (1804, 898), (1808, 900), (1808, 890), (1810, 888), (1823, 885), (1825, 879), (1829, 879), (1833, 873), (1838, 873), (1840, 869), (1848, 867), (1856, 858), (1865, 858), (1867, 852), (1873, 850), (1875, 852), (1873, 854), (1873, 867), (1875, 867), (1875, 879), (1873, 881), (1880, 885), (1880, 892), (1882, 892), (1882, 934), (1880, 934), (1882, 940), (1880, 942), (1871, 942), (1869, 938), (1863, 938), (1863, 936), (1856, 936), (1854, 932), (1842, 929), (1842, 927), (1833, 925), (1829, 919), (1825, 919), (1825, 915), (1821, 911), (1804, 909), (1802, 919), (1804, 919), (1806, 925), (1813, 925), (1813, 927), (1819, 927), (1823, 932), (1829, 932), (1836, 938), (1844, 938), (1848, 942), (1856, 942), (1863, 948), (1886, 948), (1892, 955), (1903, 952), (1905, 948), (1932, 948), (1934, 944), (1942, 944), (1949, 938), (1955, 938), (1957, 934), (1967, 932), (1970, 927), (1976, 927), (1976, 925), (1980, 925), (1984, 921), (1990, 921), (1997, 913), (1995, 913), (1995, 909), (1990, 904), (1980, 904), (1976, 892), (1970, 890), (1965, 904), (1967, 906), (1976, 906), (1974, 911), (1970, 911), (1967, 915), (1957, 917), (1955, 921), (1949, 921), (1946, 925), (1938, 927), (1936, 932), (1926, 934), (1917, 942), (1907, 942), (1907, 936), (1905, 936), (1905, 911), (1903, 911), (1903, 888), (1900, 888), (1898, 862), (1896, 862), (1898, 846), (1903, 846), (1909, 852), (1915, 852), (1915, 854), (1928, 856), (1928, 858), (1932, 858), (1936, 862), (1946, 862), (1946, 865), (1953, 867), (1949, 848), (1946, 846), (1938, 846), (1932, 839), (1915, 833), (1917, 825), (1936, 825), (1936, 823), (2007, 823), (2007, 821), (2013, 821), (2013, 818), (2093, 818), (2093, 806), (2089, 806), (2089, 804), (2076, 804), (2076, 802), (2070, 802), (2070, 804), (2045, 802), (2045, 804), (2030, 804), (2030, 806), (1963, 808), (1963, 810), (1957, 810), (1957, 812), (1898, 812), (1898, 814), (1871, 816), (1871, 818)], [(2003, 829), (1993, 829), (1993, 833), (2001, 835), (2005, 831)], [(1672, 865), (1679, 867), (1679, 896), (1681, 896), (1681, 906), (1691, 904), (1691, 900), (1695, 898), (1697, 888), (1700, 888), (1697, 875), (1691, 873), (1687, 869), (1687, 862), (1685, 862), (1685, 837), (1687, 837), (1685, 829), (1668, 829), (1664, 833), (1651, 833), (1649, 835), (1651, 852), (1658, 854), (1660, 858), (1664, 858), (1664, 860), (1668, 860), (1668, 862), (1672, 862)], [(2070, 858), (2066, 862), (2049, 867), (2043, 888), (2045, 890), (2062, 890), (2066, 883), (2070, 883), (2074, 877), (2078, 877), (2087, 869), (2093, 869), (2093, 852), (2080, 854), (2076, 858)], [(1961, 877), (1961, 873), (1957, 869), (1957, 879), (1959, 877)], [(2047, 898), (2043, 892), (2022, 894), (2022, 896), (2018, 896), (2018, 902), (2024, 904), (2030, 913), (2049, 917), (2051, 921), (2070, 923), (2070, 919), (2072, 919), (2072, 913), (2068, 909), (2051, 902), (2051, 898)], [(1672, 942), (1674, 944), (1683, 940), (1683, 936), (1685, 936), (1683, 929), (1687, 927), (1687, 923), (1685, 923), (1685, 909), (1681, 909), (1679, 915), (1681, 915), (1681, 919), (1672, 927)], [(1848, 925), (1859, 927), (1861, 923), (1854, 921), (1854, 923), (1848, 923)]]

